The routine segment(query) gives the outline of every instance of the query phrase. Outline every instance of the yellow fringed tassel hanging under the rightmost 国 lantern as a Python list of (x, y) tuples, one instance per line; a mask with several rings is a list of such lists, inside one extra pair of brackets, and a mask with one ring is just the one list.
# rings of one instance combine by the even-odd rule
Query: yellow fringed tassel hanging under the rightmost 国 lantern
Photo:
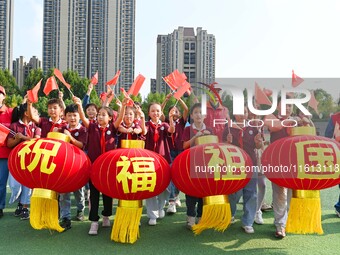
[(323, 234), (319, 190), (293, 190), (286, 231), (294, 234)]

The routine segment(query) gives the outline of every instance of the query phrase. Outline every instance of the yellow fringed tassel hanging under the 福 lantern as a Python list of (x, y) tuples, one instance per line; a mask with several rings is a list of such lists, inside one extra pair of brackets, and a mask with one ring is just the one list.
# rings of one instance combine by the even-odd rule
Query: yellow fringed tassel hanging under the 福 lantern
[(111, 240), (131, 244), (136, 242), (142, 210), (142, 200), (119, 200)]

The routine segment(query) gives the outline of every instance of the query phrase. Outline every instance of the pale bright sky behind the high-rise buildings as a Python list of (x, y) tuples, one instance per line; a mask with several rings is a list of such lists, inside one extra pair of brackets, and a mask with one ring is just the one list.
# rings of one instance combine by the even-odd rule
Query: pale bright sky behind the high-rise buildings
[[(156, 76), (157, 35), (178, 26), (215, 35), (216, 77), (289, 78), (292, 69), (303, 78), (340, 77), (338, 0), (136, 2), (135, 75), (146, 76), (144, 93)], [(43, 0), (15, 1), (14, 58), (42, 59), (42, 20)]]

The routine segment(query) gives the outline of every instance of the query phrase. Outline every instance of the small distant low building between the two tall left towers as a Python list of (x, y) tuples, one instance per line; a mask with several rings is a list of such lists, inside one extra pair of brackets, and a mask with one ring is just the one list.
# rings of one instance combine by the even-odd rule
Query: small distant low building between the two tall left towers
[(28, 63), (23, 56), (13, 60), (13, 76), (19, 88), (24, 86), (25, 79), (32, 69), (41, 69), (41, 61), (36, 56), (31, 57)]

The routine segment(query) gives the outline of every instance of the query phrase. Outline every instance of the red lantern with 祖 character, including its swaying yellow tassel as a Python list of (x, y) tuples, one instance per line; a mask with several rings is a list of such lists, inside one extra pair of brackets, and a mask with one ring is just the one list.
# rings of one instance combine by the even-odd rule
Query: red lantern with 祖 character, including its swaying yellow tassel
[[(171, 166), (172, 181), (179, 190), (204, 198), (201, 221), (193, 227), (196, 234), (207, 228), (224, 231), (228, 227), (231, 212), (226, 195), (246, 186), (252, 175), (249, 155), (234, 145), (213, 143), (216, 138), (197, 138), (197, 143), (201, 145), (182, 152)], [(216, 200), (218, 202), (214, 203)], [(210, 201), (214, 202), (209, 205)]]

